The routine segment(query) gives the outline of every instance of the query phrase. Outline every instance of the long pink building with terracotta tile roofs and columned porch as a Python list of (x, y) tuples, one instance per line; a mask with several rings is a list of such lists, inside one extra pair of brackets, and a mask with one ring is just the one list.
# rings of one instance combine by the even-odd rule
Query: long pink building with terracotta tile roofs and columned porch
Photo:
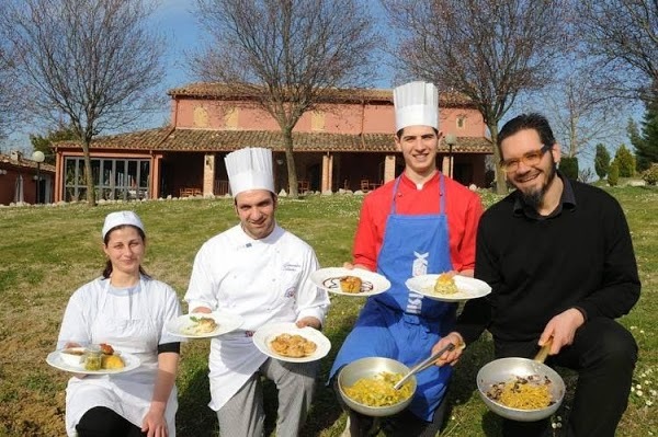
[[(288, 188), (283, 137), (256, 99), (230, 87), (192, 83), (170, 90), (171, 125), (99, 137), (90, 147), (97, 198), (143, 199), (224, 195), (229, 192), (224, 157), (243, 147), (273, 150), (276, 189)], [(390, 90), (340, 90), (305, 113), (293, 130), (298, 191), (370, 191), (404, 169), (394, 141)], [(456, 181), (484, 186), (491, 154), (481, 114), (467, 99), (440, 99), (439, 168)], [(86, 198), (80, 145), (55, 145), (56, 200)]]

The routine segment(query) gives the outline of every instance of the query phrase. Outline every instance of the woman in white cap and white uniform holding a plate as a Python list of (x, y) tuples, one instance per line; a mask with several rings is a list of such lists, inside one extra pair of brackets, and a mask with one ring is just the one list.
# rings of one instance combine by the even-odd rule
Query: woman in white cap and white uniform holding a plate
[(103, 275), (71, 296), (57, 347), (106, 343), (140, 366), (116, 375), (75, 376), (66, 389), (68, 436), (175, 436), (180, 337), (164, 323), (181, 314), (175, 291), (141, 267), (146, 237), (133, 211), (111, 212), (102, 230)]

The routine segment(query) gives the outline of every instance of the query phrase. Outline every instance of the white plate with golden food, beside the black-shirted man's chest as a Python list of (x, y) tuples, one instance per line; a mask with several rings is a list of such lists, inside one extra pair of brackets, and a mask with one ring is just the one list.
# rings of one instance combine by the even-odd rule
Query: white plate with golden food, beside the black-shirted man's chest
[(405, 284), (411, 291), (444, 302), (481, 298), (491, 292), (484, 280), (449, 273), (415, 276)]

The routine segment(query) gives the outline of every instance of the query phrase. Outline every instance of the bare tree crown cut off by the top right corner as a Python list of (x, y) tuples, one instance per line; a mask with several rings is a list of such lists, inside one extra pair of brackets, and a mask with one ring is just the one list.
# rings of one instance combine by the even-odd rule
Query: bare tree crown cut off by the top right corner
[(649, 102), (658, 95), (658, 1), (578, 2), (582, 35), (601, 79), (617, 95)]

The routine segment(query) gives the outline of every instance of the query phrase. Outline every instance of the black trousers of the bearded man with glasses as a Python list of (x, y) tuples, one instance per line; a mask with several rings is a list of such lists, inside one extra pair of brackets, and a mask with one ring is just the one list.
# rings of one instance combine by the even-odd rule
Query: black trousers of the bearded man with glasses
[[(536, 341), (496, 342), (496, 358), (532, 358)], [(633, 335), (614, 320), (595, 318), (576, 331), (574, 344), (549, 356), (548, 366), (578, 372), (574, 405), (566, 427), (568, 437), (614, 437), (622, 414), (628, 405), (637, 344)], [(503, 421), (506, 437), (544, 437), (552, 435), (548, 419), (538, 422)]]

